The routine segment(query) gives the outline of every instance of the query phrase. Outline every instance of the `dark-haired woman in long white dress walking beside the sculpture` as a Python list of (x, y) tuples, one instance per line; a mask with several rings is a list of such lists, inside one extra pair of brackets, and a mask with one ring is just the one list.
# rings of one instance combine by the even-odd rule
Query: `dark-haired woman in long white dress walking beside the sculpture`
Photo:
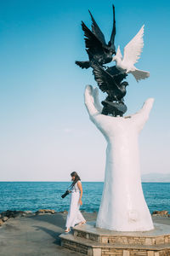
[[(66, 230), (65, 233), (70, 232), (71, 227), (75, 224), (85, 224), (86, 220), (83, 218), (82, 213), (79, 210), (80, 205), (82, 205), (82, 183), (77, 172), (71, 172), (71, 199), (70, 208), (66, 218)], [(81, 192), (81, 193), (80, 193)]]

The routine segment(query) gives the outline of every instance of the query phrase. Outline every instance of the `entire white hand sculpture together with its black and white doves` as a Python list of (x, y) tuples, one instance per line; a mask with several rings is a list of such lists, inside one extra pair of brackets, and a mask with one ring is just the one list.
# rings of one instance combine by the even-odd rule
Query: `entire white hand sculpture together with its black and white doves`
[[(91, 13), (92, 32), (82, 22), (89, 61), (76, 61), (82, 68), (93, 68), (99, 89), (108, 95), (105, 101), (101, 102), (104, 106), (102, 108), (98, 89), (88, 85), (85, 90), (85, 105), (89, 117), (107, 141), (105, 184), (96, 227), (116, 231), (153, 230), (150, 211), (141, 186), (138, 137), (149, 118), (154, 100), (148, 99), (138, 113), (123, 117), (127, 111), (124, 103), (128, 85), (124, 79), (127, 74), (132, 73), (137, 82), (150, 76), (149, 72), (134, 67), (144, 46), (144, 26), (125, 47), (123, 59), (119, 46), (116, 55), (112, 57), (115, 54), (113, 45), (116, 35), (114, 6), (113, 11), (114, 25), (111, 43), (109, 42), (107, 47), (104, 44), (105, 37)], [(109, 50), (108, 55), (106, 49)], [(116, 61), (116, 66), (105, 67), (104, 64), (110, 61)]]

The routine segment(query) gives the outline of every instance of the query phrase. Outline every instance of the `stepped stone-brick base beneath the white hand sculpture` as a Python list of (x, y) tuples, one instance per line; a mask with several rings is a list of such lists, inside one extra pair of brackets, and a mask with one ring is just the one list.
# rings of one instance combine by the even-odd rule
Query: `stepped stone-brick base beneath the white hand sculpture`
[(90, 256), (167, 256), (170, 255), (170, 226), (154, 224), (155, 230), (117, 232), (95, 227), (95, 222), (77, 225), (61, 234), (61, 246)]

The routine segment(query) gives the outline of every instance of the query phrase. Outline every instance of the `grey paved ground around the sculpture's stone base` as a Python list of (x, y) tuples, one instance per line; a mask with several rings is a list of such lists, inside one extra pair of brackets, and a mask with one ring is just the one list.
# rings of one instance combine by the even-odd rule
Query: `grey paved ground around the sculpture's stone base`
[[(96, 213), (82, 212), (87, 221)], [(82, 256), (60, 247), (59, 235), (65, 230), (66, 214), (57, 212), (11, 218), (0, 227), (0, 256)], [(154, 222), (170, 224), (170, 218), (154, 217)]]

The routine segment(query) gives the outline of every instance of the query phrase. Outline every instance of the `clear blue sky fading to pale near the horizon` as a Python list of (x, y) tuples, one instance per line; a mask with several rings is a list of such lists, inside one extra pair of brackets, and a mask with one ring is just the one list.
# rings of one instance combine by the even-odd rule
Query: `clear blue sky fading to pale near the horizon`
[[(137, 83), (128, 75), (127, 114), (153, 97), (139, 136), (141, 173), (170, 172), (170, 3), (127, 0), (0, 0), (0, 181), (104, 181), (106, 142), (88, 117), (83, 93), (97, 86), (81, 20), (88, 9), (110, 40), (116, 8), (116, 48), (144, 24), (144, 49), (136, 67), (150, 72)], [(114, 63), (112, 63), (114, 65)], [(105, 94), (99, 91), (100, 101)]]

